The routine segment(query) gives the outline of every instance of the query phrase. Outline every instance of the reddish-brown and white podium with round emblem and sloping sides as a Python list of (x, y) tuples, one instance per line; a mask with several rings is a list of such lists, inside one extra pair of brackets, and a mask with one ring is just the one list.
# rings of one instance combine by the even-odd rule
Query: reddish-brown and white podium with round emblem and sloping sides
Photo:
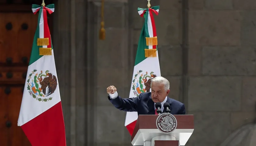
[(185, 145), (194, 131), (194, 115), (139, 115), (131, 143), (136, 146)]

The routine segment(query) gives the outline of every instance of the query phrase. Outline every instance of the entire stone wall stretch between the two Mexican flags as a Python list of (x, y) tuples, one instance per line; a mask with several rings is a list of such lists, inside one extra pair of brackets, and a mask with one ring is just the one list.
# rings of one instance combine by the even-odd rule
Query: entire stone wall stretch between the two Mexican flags
[(105, 2), (104, 41), (98, 39), (100, 2), (62, 0), (55, 5), (53, 45), (67, 145), (130, 145), (125, 112), (115, 109), (106, 94), (109, 85), (120, 96), (129, 94), (127, 2)]

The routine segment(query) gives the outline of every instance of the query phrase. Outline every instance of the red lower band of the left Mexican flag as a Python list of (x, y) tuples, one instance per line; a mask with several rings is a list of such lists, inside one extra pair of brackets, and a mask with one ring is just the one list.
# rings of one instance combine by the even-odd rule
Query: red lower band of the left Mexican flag
[(25, 123), (21, 128), (32, 146), (66, 146), (61, 102)]

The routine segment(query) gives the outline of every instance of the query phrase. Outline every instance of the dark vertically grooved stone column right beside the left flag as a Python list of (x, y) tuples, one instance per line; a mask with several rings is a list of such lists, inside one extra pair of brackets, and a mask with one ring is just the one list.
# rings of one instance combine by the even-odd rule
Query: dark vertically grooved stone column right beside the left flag
[[(53, 47), (59, 78), (67, 145), (85, 145), (90, 97), (87, 83), (87, 1), (55, 3)], [(89, 55), (88, 55), (89, 56)], [(93, 56), (92, 56), (93, 57)], [(92, 91), (94, 92), (94, 91)], [(88, 97), (88, 98), (87, 98)]]

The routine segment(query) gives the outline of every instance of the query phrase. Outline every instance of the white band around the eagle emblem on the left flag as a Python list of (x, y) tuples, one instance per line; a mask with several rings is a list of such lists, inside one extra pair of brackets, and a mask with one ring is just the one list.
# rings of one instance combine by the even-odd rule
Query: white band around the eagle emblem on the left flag
[[(51, 64), (51, 65), (48, 65), (48, 64)], [(46, 70), (50, 71), (52, 75), (55, 75), (55, 77), (57, 78), (57, 87), (54, 93), (52, 93), (51, 96), (48, 96), (48, 98), (52, 97), (52, 100), (47, 102), (43, 102), (43, 101), (40, 102), (34, 99), (33, 96), (30, 95), (30, 93), (27, 90), (27, 84), (25, 84), (22, 102), (20, 106), (18, 126), (22, 126), (23, 124), (29, 122), (30, 120), (34, 119), (41, 113), (44, 113), (46, 110), (50, 109), (52, 106), (56, 105), (61, 101), (60, 93), (59, 93), (59, 81), (58, 81), (58, 76), (57, 76), (56, 67), (55, 67), (53, 50), (52, 50), (52, 55), (44, 55), (34, 63), (30, 64), (28, 66), (27, 75), (29, 75), (31, 71), (33, 71), (34, 69), (37, 69), (37, 72), (35, 72), (35, 74), (40, 73), (40, 71), (46, 71)], [(34, 77), (35, 74), (33, 74), (32, 77)], [(33, 78), (30, 79), (30, 82), (32, 81), (32, 79)], [(28, 80), (28, 76), (26, 78), (26, 81), (27, 80)], [(47, 90), (48, 88), (46, 88), (46, 91)], [(44, 98), (47, 98), (47, 97), (44, 97)]]

